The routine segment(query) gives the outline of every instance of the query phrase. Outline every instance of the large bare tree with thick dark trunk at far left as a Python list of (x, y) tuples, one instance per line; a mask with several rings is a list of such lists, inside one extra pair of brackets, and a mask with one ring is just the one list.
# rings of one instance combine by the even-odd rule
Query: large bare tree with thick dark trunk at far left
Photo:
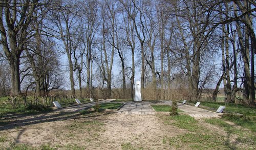
[(15, 96), (20, 94), (19, 58), (28, 38), (27, 29), (39, 3), (38, 0), (0, 3), (1, 43), (11, 69), (11, 95)]

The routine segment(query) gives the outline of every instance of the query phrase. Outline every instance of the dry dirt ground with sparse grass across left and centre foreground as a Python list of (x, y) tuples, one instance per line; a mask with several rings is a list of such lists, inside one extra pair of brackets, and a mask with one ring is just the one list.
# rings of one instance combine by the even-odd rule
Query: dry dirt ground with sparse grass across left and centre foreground
[(175, 126), (166, 126), (155, 115), (125, 115), (116, 112), (91, 115), (50, 113), (8, 121), (9, 124), (0, 131), (8, 139), (1, 143), (2, 147), (24, 143), (33, 147), (48, 144), (58, 149), (169, 149), (168, 144), (162, 143), (162, 139), (184, 132)]

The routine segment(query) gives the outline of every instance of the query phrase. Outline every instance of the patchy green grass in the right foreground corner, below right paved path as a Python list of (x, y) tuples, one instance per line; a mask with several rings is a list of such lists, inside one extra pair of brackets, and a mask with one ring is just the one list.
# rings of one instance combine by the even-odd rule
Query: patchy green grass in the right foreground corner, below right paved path
[[(166, 125), (174, 125), (188, 130), (188, 132), (182, 132), (175, 137), (173, 135), (162, 137), (161, 142), (169, 144), (171, 149), (253, 149), (256, 145), (254, 131), (230, 125), (224, 119), (210, 118), (198, 121), (188, 115), (159, 116)], [(217, 126), (219, 130), (211, 130), (211, 127), (202, 124), (202, 121)], [(223, 135), (223, 132), (226, 134)], [(236, 141), (233, 142), (231, 139)]]

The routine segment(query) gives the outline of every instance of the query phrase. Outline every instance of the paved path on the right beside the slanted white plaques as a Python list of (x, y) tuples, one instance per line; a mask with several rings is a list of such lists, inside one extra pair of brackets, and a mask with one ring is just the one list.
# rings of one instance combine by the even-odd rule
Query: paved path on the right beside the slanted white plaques
[[(165, 104), (172, 105), (172, 101), (168, 100), (161, 100)], [(218, 118), (220, 117), (220, 113), (211, 112), (208, 110), (196, 108), (195, 106), (190, 106), (182, 103), (177, 103), (178, 109), (180, 109), (183, 112), (186, 112), (189, 116), (195, 117), (195, 118)]]

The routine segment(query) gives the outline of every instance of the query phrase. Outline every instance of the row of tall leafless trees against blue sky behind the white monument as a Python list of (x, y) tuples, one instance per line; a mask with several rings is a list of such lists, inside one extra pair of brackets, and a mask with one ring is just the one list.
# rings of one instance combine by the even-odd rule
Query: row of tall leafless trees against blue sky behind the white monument
[(67, 58), (71, 95), (85, 87), (90, 97), (98, 87), (111, 97), (118, 87), (132, 98), (140, 74), (142, 90), (164, 95), (185, 86), (186, 98), (196, 100), (216, 86), (216, 100), (222, 83), (225, 101), (242, 91), (254, 105), (254, 1), (9, 0), (0, 7), (13, 97), (21, 83), (38, 96), (61, 88)]

